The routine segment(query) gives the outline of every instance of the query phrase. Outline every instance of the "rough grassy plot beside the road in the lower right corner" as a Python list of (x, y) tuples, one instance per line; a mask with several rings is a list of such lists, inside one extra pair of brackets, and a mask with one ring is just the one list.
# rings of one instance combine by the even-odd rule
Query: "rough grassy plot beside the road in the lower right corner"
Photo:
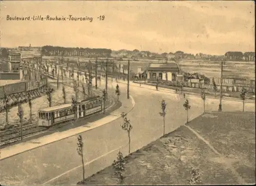
[[(192, 167), (200, 184), (255, 182), (255, 133), (252, 113), (207, 113), (188, 125), (224, 156), (212, 151), (186, 126), (126, 156), (124, 184), (189, 184)], [(86, 184), (118, 184), (107, 167)]]

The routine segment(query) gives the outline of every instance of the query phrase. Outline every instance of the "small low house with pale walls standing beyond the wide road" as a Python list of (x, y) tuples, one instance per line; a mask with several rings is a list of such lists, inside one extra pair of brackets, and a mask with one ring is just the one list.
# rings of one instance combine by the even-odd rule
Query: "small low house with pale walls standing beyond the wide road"
[(179, 73), (180, 67), (174, 61), (168, 63), (151, 63), (147, 70), (147, 79), (156, 81), (158, 78), (160, 81), (176, 82), (177, 74)]

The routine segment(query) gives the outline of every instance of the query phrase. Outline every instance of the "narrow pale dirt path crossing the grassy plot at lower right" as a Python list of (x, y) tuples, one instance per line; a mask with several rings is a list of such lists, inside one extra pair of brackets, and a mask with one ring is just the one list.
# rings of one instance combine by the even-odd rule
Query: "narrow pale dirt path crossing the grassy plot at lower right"
[(205, 140), (201, 135), (199, 135), (197, 131), (195, 131), (193, 128), (191, 128), (188, 125), (185, 125), (185, 126), (190, 131), (192, 131), (200, 140), (202, 140), (204, 143), (206, 143), (208, 145), (208, 147), (210, 147), (217, 155), (220, 156), (218, 159), (215, 158), (215, 160), (217, 160), (219, 163), (224, 164), (227, 169), (231, 170), (231, 172), (234, 175), (236, 175), (236, 177), (238, 178), (238, 181), (240, 184), (247, 184), (246, 181), (244, 180), (244, 178), (242, 176), (240, 176), (240, 174), (232, 166), (232, 162), (239, 161), (239, 160), (225, 157), (223, 154), (219, 153), (207, 140)]

